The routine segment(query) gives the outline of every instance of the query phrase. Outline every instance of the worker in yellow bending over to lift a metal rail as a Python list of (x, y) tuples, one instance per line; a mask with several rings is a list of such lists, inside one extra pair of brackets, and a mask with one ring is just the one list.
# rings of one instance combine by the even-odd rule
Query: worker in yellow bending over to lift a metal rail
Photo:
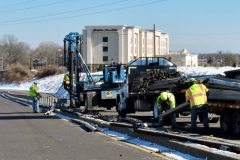
[[(157, 98), (157, 106), (159, 113), (162, 111), (168, 111), (175, 108), (175, 96), (169, 92), (162, 92)], [(159, 118), (159, 126), (163, 125), (164, 118)], [(176, 128), (176, 115), (171, 116), (172, 128)]]

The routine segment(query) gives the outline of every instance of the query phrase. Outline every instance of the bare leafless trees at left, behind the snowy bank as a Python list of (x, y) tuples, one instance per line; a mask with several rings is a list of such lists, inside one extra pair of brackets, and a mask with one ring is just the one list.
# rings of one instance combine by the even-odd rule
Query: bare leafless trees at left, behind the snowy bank
[(42, 59), (46, 65), (57, 64), (59, 57), (59, 44), (54, 42), (42, 42), (36, 49), (31, 49), (25, 42), (19, 42), (14, 35), (3, 35), (0, 39), (0, 57), (3, 57), (3, 68), (7, 69), (11, 65), (21, 64), (32, 67), (34, 59)]

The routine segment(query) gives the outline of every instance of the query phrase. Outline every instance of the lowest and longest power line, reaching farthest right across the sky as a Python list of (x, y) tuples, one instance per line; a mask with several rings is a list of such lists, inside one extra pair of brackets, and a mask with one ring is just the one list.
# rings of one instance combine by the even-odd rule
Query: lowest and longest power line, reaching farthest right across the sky
[(116, 8), (116, 9), (111, 9), (111, 10), (106, 10), (106, 11), (99, 11), (99, 12), (87, 13), (87, 14), (76, 15), (76, 16), (68, 16), (68, 17), (61, 17), (61, 18), (52, 18), (52, 19), (37, 20), (37, 21), (28, 21), (28, 22), (22, 22), (22, 23), (8, 23), (8, 24), (1, 24), (1, 25), (39, 23), (39, 22), (54, 21), (54, 20), (67, 19), (67, 18), (75, 18), (75, 17), (81, 17), (81, 16), (89, 16), (89, 15), (94, 15), (94, 14), (99, 14), (99, 13), (106, 13), (106, 12), (112, 12), (112, 11), (117, 11), (117, 10), (123, 10), (123, 9), (140, 7), (140, 6), (144, 6), (144, 5), (150, 5), (150, 4), (159, 3), (159, 2), (163, 2), (163, 1), (167, 1), (167, 0), (158, 0), (158, 1), (148, 2), (148, 3), (138, 4), (138, 5), (132, 5), (132, 6), (128, 6), (128, 7), (122, 7), (122, 8)]

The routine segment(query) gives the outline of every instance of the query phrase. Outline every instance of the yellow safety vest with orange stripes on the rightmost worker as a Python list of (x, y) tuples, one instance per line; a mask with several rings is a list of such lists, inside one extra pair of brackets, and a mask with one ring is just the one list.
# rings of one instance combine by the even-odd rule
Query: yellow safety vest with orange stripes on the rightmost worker
[(192, 108), (192, 106), (206, 104), (207, 91), (208, 91), (207, 87), (203, 84), (193, 84), (191, 87), (189, 87), (186, 90), (185, 97), (186, 101), (190, 101), (190, 108)]

